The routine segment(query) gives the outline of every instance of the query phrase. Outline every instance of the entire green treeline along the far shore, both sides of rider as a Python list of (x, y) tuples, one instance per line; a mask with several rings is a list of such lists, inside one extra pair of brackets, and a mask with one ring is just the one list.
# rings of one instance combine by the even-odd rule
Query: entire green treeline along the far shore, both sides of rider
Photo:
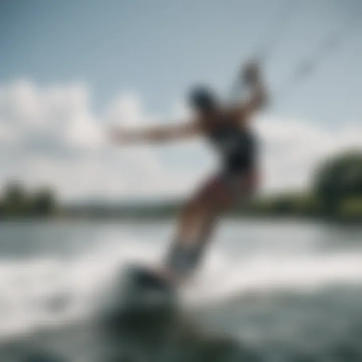
[[(310, 190), (256, 197), (231, 211), (235, 216), (310, 217), (362, 222), (362, 152), (351, 151), (326, 159), (312, 175)], [(60, 208), (51, 189), (33, 193), (10, 183), (0, 199), (0, 216), (52, 216), (61, 218), (165, 218), (182, 209), (180, 200), (159, 203), (94, 203)]]

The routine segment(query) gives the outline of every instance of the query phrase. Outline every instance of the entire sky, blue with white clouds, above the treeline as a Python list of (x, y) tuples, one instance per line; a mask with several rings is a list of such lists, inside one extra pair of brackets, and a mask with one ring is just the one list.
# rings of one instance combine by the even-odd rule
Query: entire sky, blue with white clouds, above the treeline
[(0, 0), (0, 184), (64, 200), (187, 194), (217, 167), (207, 144), (118, 149), (107, 127), (186, 116), (194, 83), (226, 98), (261, 48), (262, 190), (305, 188), (321, 159), (362, 144), (361, 16), (359, 0)]

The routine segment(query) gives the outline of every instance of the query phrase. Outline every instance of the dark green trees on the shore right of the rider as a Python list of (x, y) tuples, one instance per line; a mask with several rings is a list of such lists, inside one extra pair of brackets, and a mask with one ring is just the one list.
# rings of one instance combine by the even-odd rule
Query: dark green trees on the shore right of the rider
[(305, 193), (257, 198), (237, 212), (362, 222), (362, 152), (349, 151), (326, 159), (312, 175), (311, 189)]

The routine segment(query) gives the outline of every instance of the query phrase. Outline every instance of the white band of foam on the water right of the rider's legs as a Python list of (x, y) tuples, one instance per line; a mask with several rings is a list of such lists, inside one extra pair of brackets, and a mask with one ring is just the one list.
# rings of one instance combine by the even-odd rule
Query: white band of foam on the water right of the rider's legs
[(241, 292), (308, 291), (362, 282), (362, 254), (256, 255), (232, 260), (214, 254), (190, 286), (196, 303), (222, 301)]

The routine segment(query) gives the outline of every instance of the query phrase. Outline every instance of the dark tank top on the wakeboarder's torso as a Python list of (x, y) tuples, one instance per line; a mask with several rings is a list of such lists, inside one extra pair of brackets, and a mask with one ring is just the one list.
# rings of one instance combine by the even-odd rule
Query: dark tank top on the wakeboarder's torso
[(223, 171), (240, 173), (255, 165), (257, 145), (251, 131), (238, 125), (221, 124), (209, 132), (208, 137), (221, 156)]

